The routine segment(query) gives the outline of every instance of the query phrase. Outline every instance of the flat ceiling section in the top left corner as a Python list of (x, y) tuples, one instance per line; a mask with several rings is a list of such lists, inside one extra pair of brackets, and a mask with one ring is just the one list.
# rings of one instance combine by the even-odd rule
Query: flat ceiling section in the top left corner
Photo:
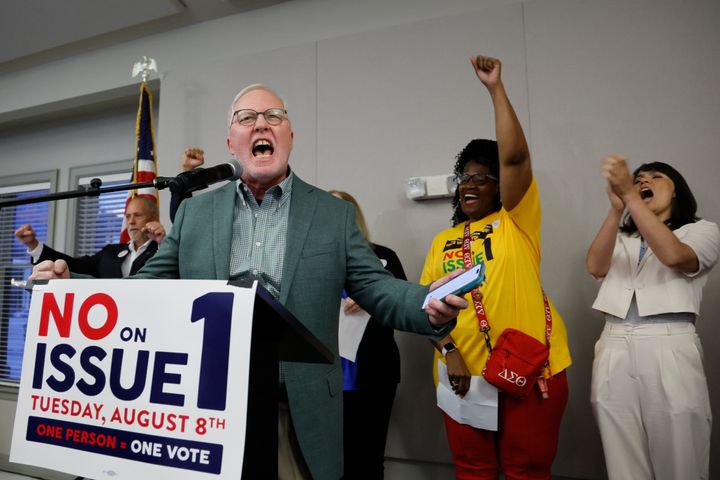
[(2, 0), (0, 70), (11, 71), (287, 0)]

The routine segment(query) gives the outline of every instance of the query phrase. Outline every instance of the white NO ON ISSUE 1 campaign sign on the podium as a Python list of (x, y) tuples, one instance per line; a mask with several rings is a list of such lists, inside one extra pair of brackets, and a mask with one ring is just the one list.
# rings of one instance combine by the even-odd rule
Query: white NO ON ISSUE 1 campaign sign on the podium
[(10, 461), (93, 479), (238, 479), (255, 288), (33, 290)]

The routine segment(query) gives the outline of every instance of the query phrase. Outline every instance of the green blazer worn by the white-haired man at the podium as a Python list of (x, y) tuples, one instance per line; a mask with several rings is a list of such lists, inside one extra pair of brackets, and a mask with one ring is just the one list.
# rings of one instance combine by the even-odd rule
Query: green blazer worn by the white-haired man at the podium
[[(229, 278), (236, 183), (185, 200), (170, 234), (136, 277)], [(355, 223), (355, 208), (294, 177), (280, 302), (335, 355), (332, 365), (284, 362), (290, 412), (316, 480), (336, 480), (342, 465), (342, 369), (338, 312), (343, 288), (374, 317), (432, 337), (421, 305), (427, 287), (394, 278)], [(274, 427), (273, 427), (274, 428)]]

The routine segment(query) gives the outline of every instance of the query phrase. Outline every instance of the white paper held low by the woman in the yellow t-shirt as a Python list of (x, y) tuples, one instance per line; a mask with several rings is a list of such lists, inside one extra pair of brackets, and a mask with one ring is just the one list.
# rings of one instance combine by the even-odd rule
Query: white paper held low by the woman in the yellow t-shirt
[(470, 389), (460, 398), (453, 392), (447, 365), (438, 360), (438, 407), (458, 423), (497, 431), (498, 391), (485, 377), (470, 377)]

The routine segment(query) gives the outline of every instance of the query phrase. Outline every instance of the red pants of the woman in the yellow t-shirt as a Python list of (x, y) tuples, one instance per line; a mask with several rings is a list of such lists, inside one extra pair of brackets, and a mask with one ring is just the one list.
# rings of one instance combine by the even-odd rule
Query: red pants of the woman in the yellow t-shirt
[(458, 480), (550, 479), (560, 420), (568, 398), (565, 372), (548, 379), (550, 398), (539, 389), (524, 400), (500, 393), (498, 431), (457, 423), (445, 415), (445, 429)]

